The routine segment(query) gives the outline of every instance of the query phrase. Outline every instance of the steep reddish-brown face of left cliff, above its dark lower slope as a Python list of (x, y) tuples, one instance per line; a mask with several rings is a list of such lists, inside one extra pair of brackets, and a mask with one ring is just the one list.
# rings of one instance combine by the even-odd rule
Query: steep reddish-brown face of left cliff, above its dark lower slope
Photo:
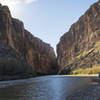
[(1, 4), (0, 43), (9, 46), (19, 58), (22, 57), (24, 62), (31, 66), (33, 72), (43, 74), (57, 72), (53, 48), (28, 32), (21, 21), (12, 18), (9, 8)]

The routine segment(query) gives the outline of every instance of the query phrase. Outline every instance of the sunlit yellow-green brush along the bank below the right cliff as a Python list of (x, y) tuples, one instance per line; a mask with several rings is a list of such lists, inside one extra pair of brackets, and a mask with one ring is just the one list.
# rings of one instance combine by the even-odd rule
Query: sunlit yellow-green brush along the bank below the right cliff
[(100, 72), (100, 66), (94, 66), (92, 68), (78, 69), (72, 71), (72, 74), (98, 74)]

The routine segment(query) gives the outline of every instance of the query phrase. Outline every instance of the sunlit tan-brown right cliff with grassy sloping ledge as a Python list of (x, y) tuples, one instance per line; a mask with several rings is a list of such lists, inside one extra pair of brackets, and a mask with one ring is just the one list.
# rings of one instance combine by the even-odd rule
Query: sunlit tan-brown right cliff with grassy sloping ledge
[(61, 71), (69, 73), (74, 69), (100, 64), (99, 42), (100, 0), (93, 4), (71, 26), (69, 32), (61, 37), (57, 45), (58, 64)]

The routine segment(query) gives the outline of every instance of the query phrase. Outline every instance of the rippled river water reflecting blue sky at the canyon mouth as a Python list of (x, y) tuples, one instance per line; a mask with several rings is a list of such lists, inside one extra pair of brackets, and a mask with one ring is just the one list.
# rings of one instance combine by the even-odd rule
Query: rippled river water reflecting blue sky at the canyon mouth
[(67, 76), (0, 82), (0, 100), (67, 100), (76, 89), (90, 83), (88, 77)]

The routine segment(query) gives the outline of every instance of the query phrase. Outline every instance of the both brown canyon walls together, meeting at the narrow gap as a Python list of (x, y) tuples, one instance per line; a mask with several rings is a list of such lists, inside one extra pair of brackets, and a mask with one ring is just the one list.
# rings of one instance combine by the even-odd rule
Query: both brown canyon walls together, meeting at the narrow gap
[(54, 49), (0, 4), (0, 80), (72, 74), (100, 65), (100, 1), (74, 23)]

